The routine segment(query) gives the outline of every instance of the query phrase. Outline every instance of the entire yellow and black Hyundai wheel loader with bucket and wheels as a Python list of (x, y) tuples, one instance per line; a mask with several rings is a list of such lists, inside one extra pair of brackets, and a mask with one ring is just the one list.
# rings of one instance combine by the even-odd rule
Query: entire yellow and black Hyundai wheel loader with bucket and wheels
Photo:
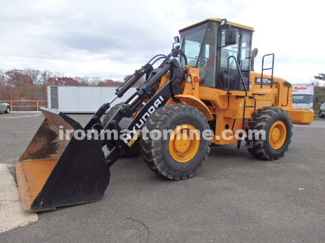
[[(291, 107), (292, 85), (273, 76), (274, 54), (254, 72), (252, 27), (207, 19), (179, 32), (172, 52), (136, 70), (85, 127), (41, 108), (45, 119), (16, 163), (24, 210), (101, 200), (110, 167), (138, 151), (153, 172), (172, 180), (193, 176), (212, 145), (237, 144), (256, 158), (278, 159), (293, 124), (312, 123), (312, 110)], [(111, 107), (142, 77), (134, 95)]]

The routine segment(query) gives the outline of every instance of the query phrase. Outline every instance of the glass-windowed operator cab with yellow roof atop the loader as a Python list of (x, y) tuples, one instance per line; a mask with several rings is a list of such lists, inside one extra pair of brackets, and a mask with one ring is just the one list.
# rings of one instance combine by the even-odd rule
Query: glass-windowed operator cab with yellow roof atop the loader
[[(200, 69), (200, 85), (244, 91), (239, 69), (246, 89), (249, 90), (251, 41), (253, 28), (223, 19), (207, 19), (180, 31), (180, 50), (185, 53), (188, 65)], [(184, 59), (180, 57), (184, 68)]]

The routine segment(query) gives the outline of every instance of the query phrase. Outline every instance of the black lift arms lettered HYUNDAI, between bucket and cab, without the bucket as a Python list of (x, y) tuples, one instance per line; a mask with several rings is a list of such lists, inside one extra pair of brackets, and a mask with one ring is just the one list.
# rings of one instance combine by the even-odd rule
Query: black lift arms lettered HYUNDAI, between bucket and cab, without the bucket
[[(98, 129), (102, 136), (107, 130), (116, 130), (118, 134), (121, 134), (123, 130), (124, 139), (103, 141), (103, 146), (107, 146), (110, 153), (106, 157), (106, 161), (109, 166), (113, 165), (115, 161), (124, 154), (138, 139), (140, 136), (139, 130), (142, 129), (142, 125), (146, 121), (146, 118), (157, 108), (166, 104), (166, 102), (173, 98), (178, 101), (175, 95), (181, 94), (181, 83), (185, 78), (187, 69), (181, 70), (180, 65), (176, 59), (170, 59), (173, 55), (180, 54), (185, 59), (185, 65), (187, 64), (186, 56), (181, 51), (173, 51), (168, 56), (160, 55), (157, 60), (165, 58), (157, 68), (153, 69), (152, 64), (145, 64), (140, 70), (137, 70), (126, 82), (124, 82), (119, 88), (116, 89), (115, 97), (109, 103), (104, 104), (91, 118), (84, 130)], [(157, 55), (159, 56), (159, 55)], [(156, 56), (156, 57), (157, 57)], [(156, 60), (155, 60), (156, 62)], [(161, 87), (154, 95), (151, 93), (152, 88), (159, 82), (159, 80), (168, 72), (170, 72), (169, 80)], [(117, 97), (120, 98), (123, 94), (130, 89), (144, 74), (146, 74), (146, 80), (142, 84), (135, 94), (129, 97), (121, 108), (114, 114), (109, 120), (108, 124), (104, 127), (101, 123), (101, 116), (109, 108)], [(144, 100), (149, 98), (149, 101), (144, 104)], [(143, 105), (144, 104), (144, 105)], [(131, 114), (137, 114), (133, 118), (129, 118)], [(128, 132), (129, 131), (129, 132)], [(106, 135), (104, 135), (106, 136)]]

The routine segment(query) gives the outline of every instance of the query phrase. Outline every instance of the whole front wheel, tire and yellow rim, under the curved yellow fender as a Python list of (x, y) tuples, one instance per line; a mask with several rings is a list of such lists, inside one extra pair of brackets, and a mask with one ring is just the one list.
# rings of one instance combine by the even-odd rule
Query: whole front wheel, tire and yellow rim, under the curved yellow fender
[[(142, 134), (140, 145), (143, 158), (158, 175), (172, 180), (189, 178), (208, 157), (211, 141), (203, 139), (202, 133), (210, 127), (202, 112), (192, 106), (171, 104), (160, 107), (150, 115), (144, 128), (147, 129), (148, 138), (144, 139)], [(176, 128), (180, 129), (182, 135), (175, 132)], [(153, 130), (161, 133), (160, 139), (150, 138), (149, 133)], [(174, 132), (168, 133), (164, 140), (164, 130)], [(195, 130), (200, 131), (200, 135), (194, 132), (191, 139), (191, 131)]]

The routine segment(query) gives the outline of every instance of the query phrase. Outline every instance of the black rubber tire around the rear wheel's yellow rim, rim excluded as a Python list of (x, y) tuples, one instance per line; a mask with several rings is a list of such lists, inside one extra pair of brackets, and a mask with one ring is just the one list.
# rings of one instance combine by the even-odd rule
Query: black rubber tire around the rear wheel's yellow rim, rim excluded
[[(253, 138), (253, 147), (248, 148), (248, 152), (259, 159), (279, 159), (288, 150), (289, 144), (291, 143), (291, 137), (293, 136), (293, 124), (291, 123), (291, 117), (288, 112), (278, 107), (265, 107), (258, 109), (253, 114), (255, 124), (250, 129), (257, 129), (266, 131), (266, 139), (262, 140), (262, 135), (259, 135), (259, 139)], [(286, 138), (283, 145), (274, 149), (271, 147), (269, 142), (269, 133), (272, 125), (278, 121), (283, 121), (286, 127)], [(246, 140), (247, 142), (247, 140)]]

